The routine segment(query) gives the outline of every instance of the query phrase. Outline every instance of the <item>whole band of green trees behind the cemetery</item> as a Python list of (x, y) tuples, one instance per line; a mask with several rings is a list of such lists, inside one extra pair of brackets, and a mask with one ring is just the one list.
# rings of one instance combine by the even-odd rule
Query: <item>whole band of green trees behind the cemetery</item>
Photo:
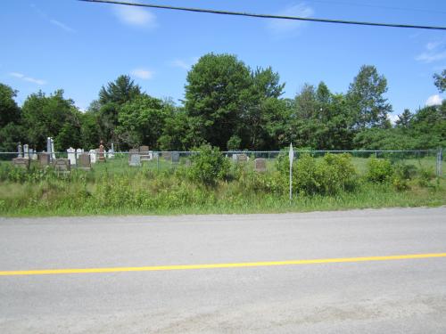
[[(446, 70), (434, 76), (440, 92)], [(56, 151), (92, 149), (100, 140), (127, 150), (187, 151), (202, 143), (220, 150), (268, 151), (295, 147), (318, 150), (409, 150), (446, 146), (446, 101), (411, 113), (395, 125), (384, 98), (387, 81), (374, 66), (362, 66), (345, 94), (324, 82), (309, 84), (293, 99), (271, 68), (250, 69), (234, 55), (209, 53), (188, 72), (181, 106), (146, 94), (128, 76), (103, 86), (86, 112), (63, 91), (30, 94), (21, 107), (16, 92), (0, 84), (0, 151), (18, 143)]]

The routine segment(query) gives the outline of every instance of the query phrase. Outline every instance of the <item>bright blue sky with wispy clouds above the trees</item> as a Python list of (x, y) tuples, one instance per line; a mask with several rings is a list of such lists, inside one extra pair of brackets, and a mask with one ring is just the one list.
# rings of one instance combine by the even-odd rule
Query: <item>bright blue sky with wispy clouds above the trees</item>
[[(140, 0), (140, 2), (144, 2)], [(219, 10), (341, 20), (446, 25), (446, 1), (145, 0)], [(147, 10), (76, 0), (4, 1), (0, 82), (19, 91), (58, 88), (82, 109), (107, 82), (130, 74), (153, 96), (184, 96), (186, 74), (205, 53), (233, 53), (248, 66), (271, 66), (293, 97), (324, 80), (347, 91), (362, 64), (387, 78), (394, 114), (443, 98), (433, 74), (446, 68), (446, 31), (260, 20)]]

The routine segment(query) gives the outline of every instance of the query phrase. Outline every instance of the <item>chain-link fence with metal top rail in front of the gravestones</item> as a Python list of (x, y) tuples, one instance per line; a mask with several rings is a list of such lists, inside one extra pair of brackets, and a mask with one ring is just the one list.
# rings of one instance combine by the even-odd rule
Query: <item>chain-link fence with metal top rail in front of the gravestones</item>
[[(294, 151), (294, 159), (299, 159), (303, 154), (310, 154), (314, 158), (323, 158), (327, 153), (351, 155), (352, 162), (359, 174), (365, 174), (368, 169), (368, 160), (371, 158), (389, 159), (393, 163), (402, 162), (415, 167), (422, 167), (434, 171), (437, 176), (445, 176), (442, 168), (444, 160), (442, 149), (417, 150), (417, 151)], [(81, 159), (81, 154), (86, 159)], [(189, 167), (192, 157), (199, 154), (196, 151), (117, 151), (117, 152), (0, 152), (0, 166), (4, 164), (17, 164), (16, 158), (28, 159), (28, 166), (44, 167), (53, 166), (57, 159), (68, 159), (70, 169), (89, 168), (94, 171), (106, 171), (107, 173), (128, 172), (138, 168), (152, 169), (156, 171), (170, 170), (178, 167)], [(277, 159), (280, 156), (288, 157), (288, 151), (223, 151), (232, 164), (244, 163), (254, 169), (256, 159), (264, 159), (267, 171), (274, 171)], [(40, 156), (47, 159), (41, 159)], [(101, 161), (103, 160), (103, 161)], [(27, 163), (28, 163), (27, 161)]]

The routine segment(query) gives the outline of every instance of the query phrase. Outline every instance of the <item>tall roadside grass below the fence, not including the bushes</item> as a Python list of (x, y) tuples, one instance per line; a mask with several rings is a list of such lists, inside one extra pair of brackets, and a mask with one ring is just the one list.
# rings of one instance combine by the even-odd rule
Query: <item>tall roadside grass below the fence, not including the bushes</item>
[[(172, 167), (160, 159), (128, 167), (127, 158), (96, 164), (90, 172), (56, 175), (37, 167), (26, 173), (3, 162), (0, 178), (1, 216), (178, 215), (280, 213), (349, 208), (434, 207), (446, 204), (445, 178), (433, 178), (434, 159), (405, 160), (417, 173), (404, 186), (391, 179), (367, 179), (369, 159), (351, 159), (355, 186), (349, 191), (308, 194), (295, 189), (288, 200), (287, 177), (268, 161), (268, 172), (231, 167), (225, 181), (194, 182), (183, 164)], [(182, 161), (184, 162), (184, 161)], [(426, 174), (426, 173), (425, 173)], [(430, 176), (429, 176), (430, 175)], [(296, 187), (295, 187), (296, 188)]]

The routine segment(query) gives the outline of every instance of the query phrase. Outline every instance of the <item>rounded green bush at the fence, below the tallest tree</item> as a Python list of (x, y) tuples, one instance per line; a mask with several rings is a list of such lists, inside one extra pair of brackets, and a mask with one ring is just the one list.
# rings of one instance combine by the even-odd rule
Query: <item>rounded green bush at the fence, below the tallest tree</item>
[(227, 177), (230, 163), (221, 154), (219, 148), (202, 145), (194, 151), (198, 151), (199, 154), (195, 154), (191, 159), (192, 166), (189, 169), (189, 175), (193, 181), (215, 185), (219, 180)]

